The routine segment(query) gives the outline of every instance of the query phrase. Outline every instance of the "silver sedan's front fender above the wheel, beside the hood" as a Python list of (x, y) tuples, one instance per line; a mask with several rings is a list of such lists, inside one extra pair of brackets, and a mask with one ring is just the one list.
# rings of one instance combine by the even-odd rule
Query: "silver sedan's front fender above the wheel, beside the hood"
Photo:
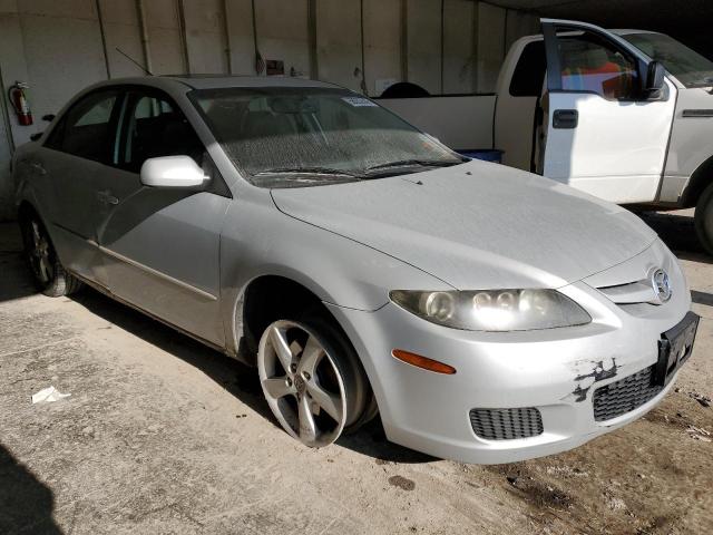
[(383, 307), (390, 290), (452, 290), (398, 259), (283, 214), (264, 192), (262, 200), (236, 200), (222, 231), (221, 301), (228, 341), (237, 343), (245, 289), (264, 275), (296, 282), (324, 303), (364, 311)]

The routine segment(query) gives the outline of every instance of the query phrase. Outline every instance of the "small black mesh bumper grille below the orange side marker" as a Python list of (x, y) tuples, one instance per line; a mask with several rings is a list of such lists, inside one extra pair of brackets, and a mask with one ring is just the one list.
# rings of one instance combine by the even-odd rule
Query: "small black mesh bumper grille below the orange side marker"
[(476, 435), (488, 440), (510, 440), (543, 434), (543, 417), (534, 407), (471, 409), (470, 425)]

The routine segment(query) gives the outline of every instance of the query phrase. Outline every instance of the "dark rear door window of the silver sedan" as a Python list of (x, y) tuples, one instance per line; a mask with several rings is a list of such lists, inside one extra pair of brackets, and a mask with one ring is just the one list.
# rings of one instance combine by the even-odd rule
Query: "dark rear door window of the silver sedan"
[(47, 143), (49, 148), (95, 162), (107, 162), (114, 147), (119, 94), (98, 91), (72, 106)]

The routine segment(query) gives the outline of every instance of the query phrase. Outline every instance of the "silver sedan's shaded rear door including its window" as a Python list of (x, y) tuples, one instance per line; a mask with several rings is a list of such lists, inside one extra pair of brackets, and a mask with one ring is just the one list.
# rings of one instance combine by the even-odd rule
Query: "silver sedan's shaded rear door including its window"
[(81, 97), (22, 163), (36, 175), (38, 207), (62, 264), (101, 285), (106, 272), (97, 247), (97, 177), (114, 152), (121, 101), (115, 88)]

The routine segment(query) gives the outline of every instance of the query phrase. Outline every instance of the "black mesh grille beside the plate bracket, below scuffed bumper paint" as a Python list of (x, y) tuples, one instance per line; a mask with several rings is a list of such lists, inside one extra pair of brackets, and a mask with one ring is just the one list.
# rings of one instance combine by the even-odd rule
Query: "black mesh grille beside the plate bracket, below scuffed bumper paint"
[(599, 387), (594, 391), (594, 419), (611, 420), (637, 409), (651, 401), (663, 390), (653, 386), (652, 377), (655, 366), (625, 377), (616, 382)]

